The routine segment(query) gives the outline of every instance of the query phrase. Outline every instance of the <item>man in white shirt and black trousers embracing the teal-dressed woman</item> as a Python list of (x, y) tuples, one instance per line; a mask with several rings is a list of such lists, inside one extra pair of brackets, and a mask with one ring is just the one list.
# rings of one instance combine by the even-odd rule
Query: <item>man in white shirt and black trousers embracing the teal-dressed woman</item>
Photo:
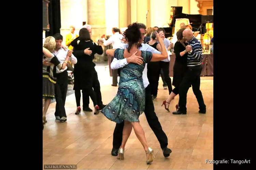
[[(161, 54), (159, 51), (157, 51), (150, 45), (142, 44), (144, 37), (145, 37), (146, 26), (143, 23), (139, 23), (139, 27), (140, 27), (140, 32), (141, 32), (141, 39), (140, 39), (140, 44), (139, 44), (138, 49), (143, 50), (143, 51), (150, 51), (152, 53)], [(160, 36), (161, 37), (164, 36), (163, 33), (160, 33)], [(128, 44), (123, 44), (122, 46), (120, 46), (118, 48), (126, 49), (127, 47), (128, 47)], [(163, 50), (167, 50), (167, 49), (163, 49)], [(113, 62), (111, 63), (111, 68), (112, 69), (122, 68), (122, 67), (128, 65), (129, 63), (137, 63), (137, 64), (141, 65), (142, 59), (143, 58), (140, 56), (128, 57), (128, 58), (124, 58), (123, 60), (117, 60), (116, 58), (114, 58)], [(164, 61), (169, 62), (170, 57), (168, 57), (168, 59), (166, 59)], [(168, 146), (167, 136), (166, 136), (165, 132), (163, 132), (162, 126), (158, 120), (158, 117), (156, 116), (156, 113), (155, 113), (154, 103), (153, 103), (152, 96), (151, 96), (151, 90), (150, 90), (149, 82), (147, 79), (147, 64), (145, 65), (145, 68), (143, 70), (142, 79), (143, 79), (144, 88), (145, 88), (145, 111), (144, 111), (144, 113), (145, 113), (147, 122), (150, 125), (153, 132), (155, 133), (155, 135), (160, 143), (161, 149), (163, 151), (163, 155), (165, 157), (168, 157), (168, 156), (170, 156), (170, 153), (172, 151), (169, 148), (167, 148), (167, 146)], [(120, 124), (116, 123), (116, 127), (115, 127), (115, 130), (113, 133), (113, 149), (111, 151), (111, 155), (113, 155), (113, 156), (117, 156), (118, 149), (121, 146), (122, 136), (123, 136), (123, 128), (124, 128), (124, 122), (120, 123)]]

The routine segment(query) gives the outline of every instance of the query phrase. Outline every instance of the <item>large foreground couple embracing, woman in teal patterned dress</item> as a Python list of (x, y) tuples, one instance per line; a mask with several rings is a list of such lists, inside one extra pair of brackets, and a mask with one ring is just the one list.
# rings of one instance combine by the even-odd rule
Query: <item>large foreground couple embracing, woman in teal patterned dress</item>
[(153, 162), (154, 151), (148, 146), (144, 130), (140, 125), (139, 116), (143, 112), (160, 142), (163, 155), (168, 157), (171, 150), (167, 148), (167, 136), (162, 131), (154, 112), (146, 67), (149, 62), (168, 60), (169, 57), (163, 39), (157, 32), (161, 54), (149, 50), (150, 48), (147, 49), (147, 45), (142, 44), (145, 36), (144, 24), (137, 22), (130, 24), (123, 36), (128, 42), (126, 45), (106, 51), (106, 54), (114, 56), (111, 68), (120, 68), (120, 79), (117, 95), (101, 112), (106, 118), (116, 122), (111, 154), (118, 159), (124, 159), (125, 145), (133, 128), (146, 152), (146, 163), (150, 164)]

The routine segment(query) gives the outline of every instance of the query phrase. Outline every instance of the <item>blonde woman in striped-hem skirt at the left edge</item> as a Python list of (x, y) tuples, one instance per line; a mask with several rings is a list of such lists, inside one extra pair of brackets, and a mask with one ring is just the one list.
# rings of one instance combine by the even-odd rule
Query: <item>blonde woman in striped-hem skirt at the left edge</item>
[[(56, 67), (59, 70), (64, 69), (68, 63), (70, 55), (67, 55), (63, 64), (60, 64), (58, 58), (52, 53), (56, 48), (55, 38), (49, 36), (45, 38), (43, 45), (43, 124), (47, 122), (46, 112), (55, 97), (54, 84), (56, 84)], [(50, 62), (51, 65), (44, 66), (44, 62)]]

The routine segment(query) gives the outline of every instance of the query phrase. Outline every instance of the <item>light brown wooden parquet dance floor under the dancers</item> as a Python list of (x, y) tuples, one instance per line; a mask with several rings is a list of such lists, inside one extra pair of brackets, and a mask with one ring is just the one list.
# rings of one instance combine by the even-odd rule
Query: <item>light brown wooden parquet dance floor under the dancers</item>
[[(112, 78), (109, 75), (103, 75), (99, 80), (102, 100), (107, 104), (116, 95), (117, 87), (111, 86)], [(145, 152), (133, 131), (127, 141), (125, 159), (117, 160), (111, 156), (115, 123), (93, 112), (75, 115), (74, 94), (66, 99), (67, 122), (55, 121), (55, 103), (52, 103), (43, 130), (43, 164), (77, 164), (77, 169), (213, 169), (213, 164), (205, 164), (206, 159), (213, 159), (213, 77), (201, 77), (201, 91), (207, 114), (198, 113), (198, 103), (190, 88), (187, 115), (173, 115), (161, 107), (162, 101), (168, 97), (168, 90), (163, 89), (159, 79), (158, 96), (154, 100), (155, 112), (168, 136), (168, 147), (172, 153), (168, 158), (163, 157), (145, 115), (141, 115), (147, 142), (156, 156), (151, 165), (146, 165)], [(170, 105), (171, 112), (175, 111), (178, 101), (179, 96), (176, 96)], [(92, 101), (90, 108), (93, 108)]]

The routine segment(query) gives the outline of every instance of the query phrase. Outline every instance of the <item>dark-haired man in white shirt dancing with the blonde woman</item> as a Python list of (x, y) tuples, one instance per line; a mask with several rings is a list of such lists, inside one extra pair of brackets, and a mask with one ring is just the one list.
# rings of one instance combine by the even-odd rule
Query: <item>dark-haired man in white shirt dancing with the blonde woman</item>
[[(53, 36), (56, 41), (56, 49), (53, 51), (53, 54), (57, 56), (61, 64), (64, 63), (67, 55), (70, 56), (70, 62), (73, 64), (77, 63), (76, 57), (72, 54), (72, 51), (64, 49), (61, 47), (63, 36), (59, 33)], [(47, 64), (47, 63), (46, 63)], [(55, 84), (55, 99), (56, 99), (56, 108), (55, 108), (55, 118), (60, 122), (67, 121), (67, 115), (65, 111), (65, 102), (68, 91), (68, 72), (67, 66), (65, 69), (59, 70), (56, 68), (56, 84)]]

